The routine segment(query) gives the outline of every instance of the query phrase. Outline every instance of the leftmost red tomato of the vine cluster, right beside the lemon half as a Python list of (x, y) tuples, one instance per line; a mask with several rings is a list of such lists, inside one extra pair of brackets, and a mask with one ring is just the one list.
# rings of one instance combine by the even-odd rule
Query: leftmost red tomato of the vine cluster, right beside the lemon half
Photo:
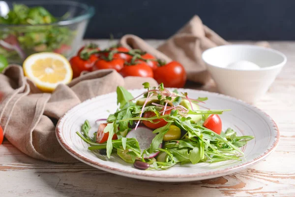
[(79, 56), (74, 56), (70, 59), (70, 64), (73, 69), (73, 77), (80, 76), (82, 71), (91, 71), (92, 66), (98, 60), (95, 55), (90, 55), (88, 60), (83, 60)]

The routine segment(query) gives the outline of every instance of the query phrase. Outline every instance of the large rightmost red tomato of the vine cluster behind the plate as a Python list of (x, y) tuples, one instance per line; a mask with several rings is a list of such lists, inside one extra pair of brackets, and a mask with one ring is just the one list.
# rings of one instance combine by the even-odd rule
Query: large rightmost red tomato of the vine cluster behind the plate
[(154, 79), (167, 88), (182, 88), (186, 82), (186, 72), (180, 63), (173, 61), (155, 69)]

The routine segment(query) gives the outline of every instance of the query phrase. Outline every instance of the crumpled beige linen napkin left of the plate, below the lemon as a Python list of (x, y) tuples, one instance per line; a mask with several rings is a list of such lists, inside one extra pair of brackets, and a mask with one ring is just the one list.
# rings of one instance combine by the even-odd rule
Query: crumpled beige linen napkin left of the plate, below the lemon
[(142, 88), (152, 78), (123, 78), (112, 69), (84, 74), (68, 85), (59, 85), (52, 93), (41, 93), (24, 77), (21, 66), (11, 65), (0, 74), (0, 125), (5, 137), (30, 157), (52, 162), (71, 163), (76, 160), (59, 145), (55, 124), (70, 108), (98, 95), (127, 89)]

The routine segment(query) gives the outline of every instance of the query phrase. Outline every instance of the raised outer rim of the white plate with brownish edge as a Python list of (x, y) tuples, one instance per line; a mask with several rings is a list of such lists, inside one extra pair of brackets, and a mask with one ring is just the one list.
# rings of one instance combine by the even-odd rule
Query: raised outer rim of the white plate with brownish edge
[[(170, 88), (171, 89), (171, 88)], [(85, 102), (89, 102), (89, 100), (92, 99), (96, 99), (97, 97), (103, 96), (103, 95), (110, 95), (110, 94), (114, 94), (116, 93), (115, 91), (111, 92), (111, 93), (107, 93), (107, 94), (103, 94), (103, 95), (99, 95), (96, 97), (93, 97), (91, 99), (87, 99), (84, 100), (83, 102), (75, 105), (74, 107), (72, 107), (71, 109), (69, 109), (66, 113), (64, 113), (59, 121), (58, 124), (56, 126), (56, 136), (57, 139), (59, 141), (59, 144), (61, 145), (61, 147), (63, 149), (66, 150), (66, 152), (68, 152), (71, 156), (73, 156), (74, 158), (78, 159), (79, 161), (89, 164), (93, 167), (99, 168), (101, 170), (104, 171), (108, 171), (111, 173), (115, 173), (118, 175), (123, 175), (123, 176), (127, 176), (127, 177), (131, 177), (131, 178), (138, 178), (138, 179), (144, 179), (144, 180), (155, 180), (155, 181), (161, 181), (161, 180), (157, 180), (157, 179), (165, 179), (165, 181), (170, 181), (172, 180), (172, 178), (177, 178), (177, 180), (175, 180), (175, 182), (177, 181), (192, 181), (192, 180), (202, 180), (202, 179), (207, 179), (207, 178), (214, 178), (214, 177), (219, 177), (219, 176), (224, 176), (227, 174), (232, 174), (236, 171), (242, 170), (250, 165), (256, 164), (258, 162), (261, 162), (263, 159), (265, 159), (268, 155), (270, 155), (275, 148), (278, 145), (279, 139), (280, 139), (280, 131), (279, 128), (277, 126), (277, 124), (275, 123), (275, 121), (263, 110), (261, 110), (260, 108), (249, 104), (243, 100), (240, 99), (236, 99), (234, 97), (228, 96), (228, 95), (223, 95), (220, 93), (215, 93), (215, 92), (208, 92), (208, 91), (203, 91), (203, 90), (194, 90), (194, 89), (183, 89), (183, 88), (172, 88), (172, 89), (177, 89), (177, 90), (181, 90), (181, 91), (185, 91), (185, 90), (189, 90), (189, 91), (193, 91), (193, 92), (201, 92), (201, 93), (205, 93), (205, 94), (211, 94), (211, 95), (215, 95), (218, 97), (224, 97), (227, 99), (231, 99), (233, 101), (236, 101), (240, 104), (243, 104), (244, 106), (250, 107), (254, 110), (258, 110), (260, 112), (262, 112), (265, 117), (272, 123), (272, 127), (273, 130), (275, 131), (275, 135), (274, 135), (274, 141), (272, 142), (272, 144), (270, 145), (270, 148), (266, 149), (265, 152), (261, 155), (259, 155), (258, 157), (247, 161), (245, 163), (242, 164), (238, 164), (232, 167), (228, 167), (222, 170), (217, 170), (217, 171), (211, 171), (211, 172), (203, 172), (203, 173), (191, 173), (191, 174), (161, 174), (160, 176), (157, 174), (148, 174), (145, 173), (145, 170), (141, 170), (141, 171), (133, 171), (133, 170), (126, 170), (126, 169), (121, 169), (119, 167), (111, 167), (109, 165), (106, 164), (101, 164), (100, 162), (95, 162), (93, 160), (90, 160), (89, 158), (81, 155), (80, 153), (76, 152), (75, 150), (73, 150), (69, 145), (67, 145), (62, 137), (62, 132), (61, 132), (61, 124), (63, 123), (63, 119), (67, 116), (68, 113), (71, 112), (71, 110), (73, 110), (74, 108), (78, 107), (80, 104), (85, 103)], [(145, 89), (129, 89), (128, 91), (144, 91)], [(157, 178), (157, 179), (155, 179)], [(174, 182), (174, 181), (173, 181)]]

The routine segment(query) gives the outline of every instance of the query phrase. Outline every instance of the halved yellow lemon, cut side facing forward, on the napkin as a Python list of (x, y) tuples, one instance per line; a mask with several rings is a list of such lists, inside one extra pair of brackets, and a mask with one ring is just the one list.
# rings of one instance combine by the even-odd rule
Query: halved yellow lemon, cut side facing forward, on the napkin
[(24, 74), (43, 92), (52, 92), (59, 84), (72, 80), (68, 60), (60, 54), (44, 52), (30, 55), (23, 64)]

